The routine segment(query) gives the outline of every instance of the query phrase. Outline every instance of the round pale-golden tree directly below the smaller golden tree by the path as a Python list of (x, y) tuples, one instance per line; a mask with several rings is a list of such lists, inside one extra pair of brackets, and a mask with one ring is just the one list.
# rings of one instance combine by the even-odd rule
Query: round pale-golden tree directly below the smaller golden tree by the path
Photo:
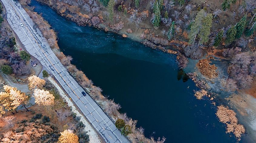
[(35, 103), (39, 106), (41, 105), (51, 105), (54, 103), (54, 96), (47, 90), (44, 89), (35, 89), (34, 95)]

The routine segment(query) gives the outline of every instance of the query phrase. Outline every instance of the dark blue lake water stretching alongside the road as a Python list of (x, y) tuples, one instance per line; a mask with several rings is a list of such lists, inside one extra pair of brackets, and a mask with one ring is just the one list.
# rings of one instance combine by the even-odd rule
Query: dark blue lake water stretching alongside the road
[(121, 112), (138, 120), (146, 137), (165, 136), (166, 142), (236, 142), (218, 121), (216, 107), (194, 97), (194, 83), (178, 80), (174, 55), (114, 33), (77, 26), (35, 0), (31, 5), (58, 33), (59, 47), (73, 57), (72, 64), (119, 103)]

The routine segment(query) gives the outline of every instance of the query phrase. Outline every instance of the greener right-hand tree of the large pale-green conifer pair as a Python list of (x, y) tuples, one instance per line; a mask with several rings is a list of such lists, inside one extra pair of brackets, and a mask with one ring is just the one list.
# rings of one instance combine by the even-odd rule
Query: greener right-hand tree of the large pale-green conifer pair
[(206, 43), (209, 40), (209, 35), (211, 33), (212, 26), (212, 14), (207, 14), (207, 16), (202, 20), (202, 27), (200, 29), (199, 37), (202, 43)]

